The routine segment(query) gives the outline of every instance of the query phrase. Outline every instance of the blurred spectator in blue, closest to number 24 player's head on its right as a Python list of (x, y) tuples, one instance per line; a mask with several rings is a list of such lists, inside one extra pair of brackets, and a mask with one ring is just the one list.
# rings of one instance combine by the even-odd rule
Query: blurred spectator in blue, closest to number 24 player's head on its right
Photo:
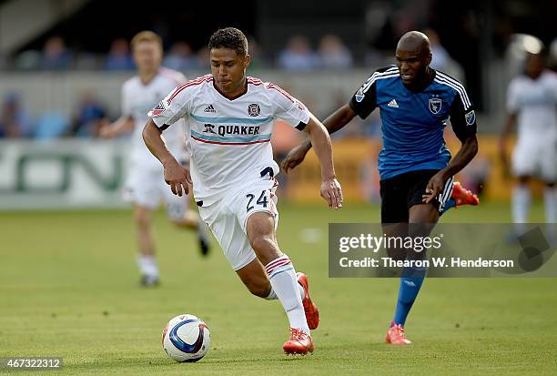
[(319, 66), (319, 56), (311, 50), (305, 36), (293, 36), (280, 52), (277, 63), (283, 69), (307, 72)]

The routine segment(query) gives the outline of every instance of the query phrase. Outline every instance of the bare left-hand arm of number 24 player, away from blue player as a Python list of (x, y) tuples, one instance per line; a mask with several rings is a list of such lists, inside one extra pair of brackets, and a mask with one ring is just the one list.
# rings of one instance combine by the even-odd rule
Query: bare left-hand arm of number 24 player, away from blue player
[(160, 129), (158, 129), (153, 119), (149, 118), (143, 128), (145, 145), (165, 168), (165, 181), (170, 186), (172, 193), (178, 196), (187, 194), (189, 192), (187, 183), (192, 184), (189, 170), (180, 165), (176, 158), (170, 154), (160, 134)]

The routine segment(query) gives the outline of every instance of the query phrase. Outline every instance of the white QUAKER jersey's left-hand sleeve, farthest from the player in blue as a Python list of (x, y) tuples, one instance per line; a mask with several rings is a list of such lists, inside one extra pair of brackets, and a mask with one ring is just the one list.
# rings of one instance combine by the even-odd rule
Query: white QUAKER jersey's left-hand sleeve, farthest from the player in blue
[(166, 129), (182, 117), (186, 117), (192, 99), (192, 88), (187, 82), (177, 86), (167, 97), (161, 100), (157, 107), (149, 111), (148, 116), (153, 119), (157, 127)]

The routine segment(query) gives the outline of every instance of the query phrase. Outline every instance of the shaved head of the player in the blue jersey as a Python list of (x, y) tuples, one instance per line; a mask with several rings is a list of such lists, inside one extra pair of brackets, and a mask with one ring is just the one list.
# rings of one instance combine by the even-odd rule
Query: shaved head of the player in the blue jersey
[(409, 31), (399, 40), (395, 54), (404, 85), (417, 87), (432, 79), (430, 39), (419, 31)]

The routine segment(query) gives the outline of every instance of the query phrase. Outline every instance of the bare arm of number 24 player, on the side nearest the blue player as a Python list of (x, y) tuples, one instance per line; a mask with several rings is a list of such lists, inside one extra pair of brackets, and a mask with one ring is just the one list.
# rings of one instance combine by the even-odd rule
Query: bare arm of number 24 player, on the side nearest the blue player
[(312, 114), (309, 114), (304, 130), (309, 134), (321, 166), (321, 197), (327, 201), (329, 208), (339, 209), (342, 207), (342, 188), (335, 175), (329, 133)]

